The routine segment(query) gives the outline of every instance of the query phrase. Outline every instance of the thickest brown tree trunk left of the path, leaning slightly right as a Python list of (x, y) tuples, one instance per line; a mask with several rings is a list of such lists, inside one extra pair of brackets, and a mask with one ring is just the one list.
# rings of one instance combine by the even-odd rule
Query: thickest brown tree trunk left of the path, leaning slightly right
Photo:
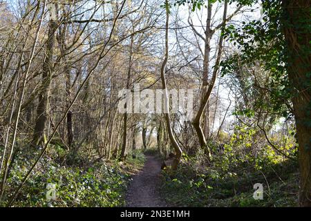
[(37, 146), (44, 140), (44, 128), (47, 120), (48, 93), (50, 89), (51, 73), (53, 71), (53, 52), (55, 44), (55, 32), (57, 23), (52, 18), (48, 23), (48, 40), (46, 45), (46, 56), (44, 58), (42, 70), (41, 90), (39, 94), (39, 104), (37, 106), (37, 119), (35, 122), (35, 130), (32, 137), (32, 146)]

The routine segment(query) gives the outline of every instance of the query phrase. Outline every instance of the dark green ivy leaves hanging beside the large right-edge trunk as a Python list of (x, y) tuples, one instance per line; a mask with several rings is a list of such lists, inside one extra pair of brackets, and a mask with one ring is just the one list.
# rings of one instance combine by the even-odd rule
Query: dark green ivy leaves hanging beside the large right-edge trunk
[[(269, 73), (265, 85), (266, 97), (258, 99), (254, 109), (261, 107), (270, 113), (290, 118), (292, 113), (286, 102), (295, 95), (287, 73), (288, 52), (283, 35), (283, 8), (281, 1), (263, 1), (261, 20), (242, 21), (241, 25), (229, 25), (224, 37), (237, 46), (239, 51), (221, 62), (222, 75), (232, 75), (241, 66), (260, 66)], [(253, 86), (253, 85), (250, 85)], [(268, 92), (268, 93), (267, 93)]]

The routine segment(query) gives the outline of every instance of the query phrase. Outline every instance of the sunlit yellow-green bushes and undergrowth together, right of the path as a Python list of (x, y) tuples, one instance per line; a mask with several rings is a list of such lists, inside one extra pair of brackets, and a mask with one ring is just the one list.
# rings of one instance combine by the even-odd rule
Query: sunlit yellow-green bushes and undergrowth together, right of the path
[[(271, 139), (283, 153), (297, 153), (294, 137), (276, 133)], [(162, 173), (162, 194), (169, 203), (176, 206), (297, 206), (297, 162), (275, 151), (258, 128), (236, 126), (225, 144), (209, 140), (208, 146), (211, 164), (204, 151), (198, 150), (196, 155), (182, 155), (176, 173)], [(256, 183), (264, 186), (264, 200), (253, 198)]]

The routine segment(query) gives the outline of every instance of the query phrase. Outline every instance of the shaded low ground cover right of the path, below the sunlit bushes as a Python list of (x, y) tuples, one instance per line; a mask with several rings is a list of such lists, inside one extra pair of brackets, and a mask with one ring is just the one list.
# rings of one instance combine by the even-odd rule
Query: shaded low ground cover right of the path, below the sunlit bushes
[[(162, 195), (175, 206), (298, 206), (296, 162), (252, 162), (198, 170), (198, 157), (184, 156), (178, 171), (162, 172)], [(257, 183), (263, 184), (263, 200), (253, 198)]]

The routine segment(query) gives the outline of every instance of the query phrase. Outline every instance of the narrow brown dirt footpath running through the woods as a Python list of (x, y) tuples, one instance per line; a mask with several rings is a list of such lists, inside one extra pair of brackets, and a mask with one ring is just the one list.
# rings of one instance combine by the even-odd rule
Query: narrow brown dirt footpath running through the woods
[(126, 206), (129, 207), (164, 207), (167, 203), (162, 200), (158, 191), (160, 186), (161, 163), (158, 158), (146, 154), (144, 168), (133, 175), (133, 180), (126, 195)]

